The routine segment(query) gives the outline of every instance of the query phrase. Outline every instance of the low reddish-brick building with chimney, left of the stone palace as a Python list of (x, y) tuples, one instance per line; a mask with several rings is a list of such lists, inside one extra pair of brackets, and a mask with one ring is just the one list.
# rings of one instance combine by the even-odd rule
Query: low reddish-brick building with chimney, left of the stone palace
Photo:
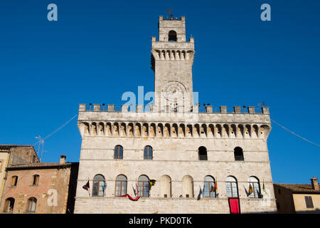
[(71, 214), (75, 203), (78, 162), (29, 162), (6, 168), (0, 212)]

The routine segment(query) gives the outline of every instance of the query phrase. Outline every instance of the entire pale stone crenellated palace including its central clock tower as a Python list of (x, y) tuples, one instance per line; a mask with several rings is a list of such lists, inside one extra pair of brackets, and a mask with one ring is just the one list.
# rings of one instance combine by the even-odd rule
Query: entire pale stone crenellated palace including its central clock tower
[(151, 46), (153, 105), (80, 104), (75, 213), (276, 212), (269, 109), (194, 105), (185, 17), (160, 16)]

